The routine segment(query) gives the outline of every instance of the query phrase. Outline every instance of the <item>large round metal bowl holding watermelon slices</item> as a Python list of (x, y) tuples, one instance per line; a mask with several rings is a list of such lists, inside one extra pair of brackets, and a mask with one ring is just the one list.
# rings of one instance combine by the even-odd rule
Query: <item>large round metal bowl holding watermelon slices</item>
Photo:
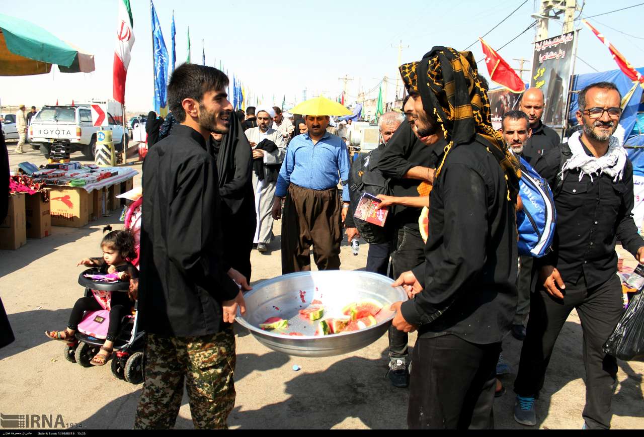
[[(236, 321), (264, 346), (287, 355), (298, 357), (332, 357), (362, 349), (382, 335), (392, 324), (390, 305), (406, 301), (402, 287), (393, 288), (392, 279), (370, 272), (330, 270), (299, 272), (282, 275), (256, 284), (245, 294), (246, 314), (238, 311)], [(362, 299), (375, 299), (383, 304), (377, 314), (377, 324), (363, 330), (336, 335), (314, 336), (318, 321), (310, 322), (299, 316), (299, 310), (312, 301), (323, 302), (324, 317), (341, 315), (341, 309)], [(269, 317), (289, 321), (283, 331), (265, 331), (259, 328)], [(289, 333), (303, 335), (294, 336)]]

